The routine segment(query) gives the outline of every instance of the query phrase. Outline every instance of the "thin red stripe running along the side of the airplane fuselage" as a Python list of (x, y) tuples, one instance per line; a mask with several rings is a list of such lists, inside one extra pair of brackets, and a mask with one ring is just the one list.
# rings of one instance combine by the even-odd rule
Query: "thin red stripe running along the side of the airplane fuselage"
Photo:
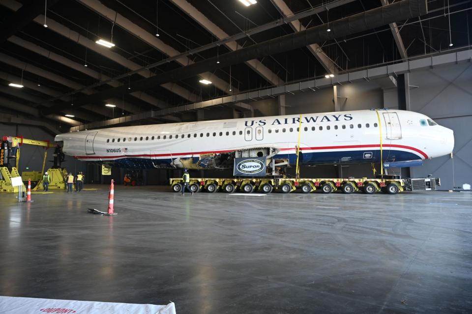
[[(428, 159), (428, 155), (422, 150), (406, 145), (397, 145), (397, 144), (383, 144), (383, 147), (395, 147), (395, 148), (404, 148), (413, 150), (421, 154), (425, 159)], [(300, 150), (322, 150), (322, 149), (342, 149), (342, 148), (372, 148), (379, 147), (380, 144), (365, 144), (365, 145), (341, 145), (341, 146), (318, 146), (318, 147), (301, 147)], [(281, 151), (295, 150), (295, 148), (280, 148)], [(196, 152), (187, 152), (187, 153), (173, 153), (173, 154), (139, 154), (139, 155), (119, 155), (119, 156), (74, 156), (78, 159), (113, 159), (113, 158), (127, 158), (127, 157), (174, 157), (174, 156), (184, 156), (184, 155), (203, 155), (203, 154), (218, 154), (218, 153), (228, 153), (235, 151), (234, 149), (229, 150), (214, 150), (214, 151), (196, 151)]]

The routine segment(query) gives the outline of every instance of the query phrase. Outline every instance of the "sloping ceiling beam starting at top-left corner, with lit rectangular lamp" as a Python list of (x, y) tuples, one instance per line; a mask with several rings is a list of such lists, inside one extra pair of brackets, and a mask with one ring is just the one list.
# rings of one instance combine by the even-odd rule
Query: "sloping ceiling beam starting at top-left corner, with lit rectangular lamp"
[[(18, 7), (15, 2), (16, 1), (14, 0), (8, 0), (4, 2), (2, 1), (0, 2), (0, 4), (10, 8), (11, 10), (15, 10), (15, 8)], [(38, 15), (33, 21), (36, 22), (37, 24), (43, 25), (44, 15)], [(142, 68), (141, 65), (128, 60), (127, 58), (109, 50), (108, 48), (97, 45), (94, 41), (88, 39), (85, 36), (82, 36), (78, 32), (73, 31), (72, 29), (66, 28), (65, 26), (61, 25), (60, 23), (56, 22), (55, 20), (51, 18), (48, 18), (48, 29), (55, 31), (56, 33), (84, 47), (87, 47), (88, 49), (102, 55), (103, 57), (109, 58), (110, 60), (115, 61), (121, 66), (124, 66), (130, 70), (137, 70), (137, 69)], [(148, 78), (154, 75), (148, 69), (144, 69), (140, 71), (138, 74), (144, 78)], [(161, 86), (188, 101), (196, 101), (198, 99), (197, 95), (193, 94), (189, 90), (175, 83), (168, 82), (168, 83), (162, 84)]]

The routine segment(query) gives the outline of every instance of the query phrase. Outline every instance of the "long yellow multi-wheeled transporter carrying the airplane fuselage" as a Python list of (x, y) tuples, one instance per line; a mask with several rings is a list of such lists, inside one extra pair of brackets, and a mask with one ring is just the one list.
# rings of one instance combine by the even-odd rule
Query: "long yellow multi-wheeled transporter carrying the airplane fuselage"
[[(171, 178), (169, 183), (174, 192), (182, 189), (182, 178)], [(310, 193), (320, 189), (322, 193), (331, 193), (341, 190), (351, 194), (361, 190), (365, 194), (374, 194), (383, 191), (396, 194), (405, 190), (405, 179), (387, 178), (191, 178), (190, 189), (199, 192), (205, 189), (209, 193), (218, 190), (233, 193), (235, 191), (252, 193), (255, 191), (270, 193), (273, 190), (290, 193), (299, 190), (301, 193)]]

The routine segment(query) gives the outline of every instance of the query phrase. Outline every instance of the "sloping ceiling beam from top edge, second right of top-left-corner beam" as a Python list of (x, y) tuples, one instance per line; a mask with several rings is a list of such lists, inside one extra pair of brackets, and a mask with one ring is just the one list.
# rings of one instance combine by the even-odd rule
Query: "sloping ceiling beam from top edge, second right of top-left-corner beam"
[[(97, 14), (105, 17), (111, 22), (115, 22), (115, 24), (122, 29), (128, 31), (130, 34), (133, 36), (141, 39), (145, 43), (147, 43), (149, 46), (151, 46), (154, 49), (159, 50), (161, 53), (166, 54), (169, 57), (174, 57), (179, 54), (181, 54), (179, 51), (174, 49), (173, 47), (165, 44), (161, 39), (156, 37), (154, 34), (149, 33), (146, 29), (143, 29), (139, 27), (138, 25), (134, 24), (131, 22), (129, 19), (125, 18), (118, 12), (108, 8), (107, 6), (103, 5), (100, 1), (98, 0), (78, 0), (78, 2), (82, 3), (86, 7), (88, 7), (90, 10), (96, 12)], [(189, 64), (194, 63), (191, 59), (188, 57), (181, 57), (178, 58), (177, 63), (179, 63), (182, 66), (186, 66)], [(216, 75), (210, 73), (210, 72), (205, 72), (199, 75), (200, 78), (209, 80), (213, 83), (216, 88), (224, 91), (227, 94), (230, 94), (229, 90), (229, 83), (225, 82), (224, 80), (220, 79)], [(235, 88), (233, 88), (234, 90)]]

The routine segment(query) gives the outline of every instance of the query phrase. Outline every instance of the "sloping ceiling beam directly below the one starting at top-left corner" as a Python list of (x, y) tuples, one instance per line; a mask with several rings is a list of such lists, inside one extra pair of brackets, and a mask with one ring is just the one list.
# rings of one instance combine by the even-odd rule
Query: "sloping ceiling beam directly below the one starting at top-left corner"
[[(66, 57), (62, 57), (50, 50), (47, 50), (47, 49), (44, 49), (42, 48), (41, 46), (38, 46), (36, 44), (33, 44), (29, 41), (26, 41), (20, 37), (17, 37), (17, 36), (11, 36), (10, 38), (8, 38), (8, 41), (9, 42), (12, 42), (14, 43), (15, 45), (18, 45), (20, 47), (23, 47), (25, 49), (28, 49), (29, 51), (32, 51), (36, 54), (39, 54), (43, 57), (47, 57), (53, 61), (56, 61), (62, 65), (65, 65), (71, 69), (74, 69), (76, 71), (79, 71), (81, 73), (84, 73), (85, 75), (88, 75), (92, 78), (94, 78), (95, 80), (97, 81), (108, 81), (108, 80), (111, 80), (110, 77), (106, 76), (106, 75), (103, 75), (101, 73), (98, 73), (97, 71), (95, 70), (92, 70), (90, 67), (86, 67), (84, 66), (83, 64), (79, 64), (77, 62), (74, 62)], [(121, 84), (117, 81), (110, 81), (107, 83), (109, 86), (112, 86), (112, 87), (118, 87), (120, 86)], [(135, 91), (135, 92), (132, 92), (130, 93), (130, 95), (138, 98), (138, 99), (141, 99), (155, 107), (158, 107), (158, 108), (166, 108), (167, 107), (167, 104), (151, 95), (148, 95), (142, 91)]]

